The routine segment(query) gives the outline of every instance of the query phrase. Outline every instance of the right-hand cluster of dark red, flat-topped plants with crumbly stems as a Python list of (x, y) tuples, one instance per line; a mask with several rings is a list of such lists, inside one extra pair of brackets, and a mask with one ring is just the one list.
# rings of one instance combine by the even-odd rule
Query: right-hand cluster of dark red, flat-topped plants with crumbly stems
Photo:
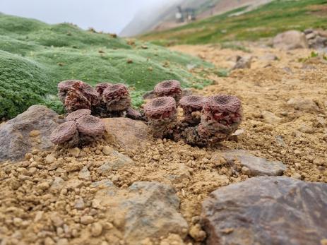
[[(189, 95), (176, 100), (177, 83), (174, 80), (159, 83), (157, 88), (170, 88), (164, 97), (157, 97), (145, 104), (144, 112), (148, 124), (157, 138), (184, 139), (191, 145), (212, 145), (227, 140), (242, 121), (241, 101), (232, 95), (203, 97)], [(180, 86), (179, 86), (180, 88)], [(179, 94), (182, 95), (182, 94)], [(177, 96), (178, 97), (178, 96)], [(183, 109), (184, 118), (177, 120), (177, 103)]]

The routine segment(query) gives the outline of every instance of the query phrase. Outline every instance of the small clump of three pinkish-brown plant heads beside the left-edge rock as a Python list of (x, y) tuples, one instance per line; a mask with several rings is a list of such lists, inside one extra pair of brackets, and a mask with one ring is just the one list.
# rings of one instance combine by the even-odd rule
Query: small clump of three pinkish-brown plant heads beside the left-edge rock
[(72, 148), (93, 142), (103, 133), (105, 124), (101, 119), (91, 116), (88, 109), (79, 109), (69, 114), (66, 122), (54, 129), (50, 140), (55, 145)]

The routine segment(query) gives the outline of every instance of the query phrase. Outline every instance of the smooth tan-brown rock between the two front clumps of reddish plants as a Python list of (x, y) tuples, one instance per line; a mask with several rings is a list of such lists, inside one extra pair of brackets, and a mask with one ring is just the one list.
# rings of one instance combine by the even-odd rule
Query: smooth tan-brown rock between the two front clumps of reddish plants
[(134, 121), (129, 118), (103, 119), (107, 129), (107, 138), (114, 145), (119, 145), (125, 150), (137, 150), (145, 148), (150, 142), (148, 126), (142, 121)]

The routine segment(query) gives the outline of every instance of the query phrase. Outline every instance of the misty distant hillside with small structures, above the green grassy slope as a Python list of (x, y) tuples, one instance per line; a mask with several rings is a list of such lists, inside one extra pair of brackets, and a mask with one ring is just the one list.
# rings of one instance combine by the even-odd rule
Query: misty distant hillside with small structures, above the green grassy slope
[(121, 31), (123, 37), (133, 37), (153, 30), (167, 30), (196, 19), (208, 18), (234, 8), (248, 6), (249, 10), (271, 0), (174, 0), (154, 9), (143, 9)]

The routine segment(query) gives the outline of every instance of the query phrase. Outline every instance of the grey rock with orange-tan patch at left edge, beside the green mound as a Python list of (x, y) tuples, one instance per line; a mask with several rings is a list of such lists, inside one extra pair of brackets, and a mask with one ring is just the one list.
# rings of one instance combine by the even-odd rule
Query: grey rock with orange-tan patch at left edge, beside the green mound
[(56, 112), (41, 105), (33, 105), (7, 121), (0, 127), (0, 162), (20, 160), (32, 148), (52, 148), (49, 136), (62, 122)]

